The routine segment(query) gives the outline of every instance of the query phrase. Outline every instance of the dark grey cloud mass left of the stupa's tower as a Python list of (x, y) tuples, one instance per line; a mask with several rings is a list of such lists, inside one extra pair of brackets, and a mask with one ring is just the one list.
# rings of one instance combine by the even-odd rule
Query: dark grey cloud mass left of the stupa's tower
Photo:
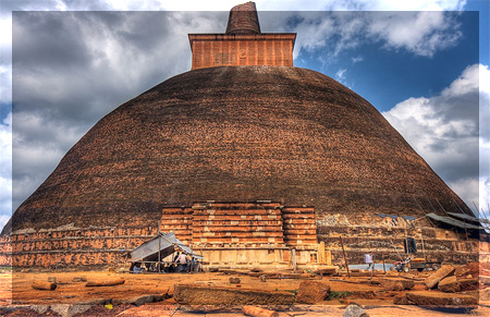
[(15, 12), (13, 207), (106, 113), (191, 68), (228, 12)]

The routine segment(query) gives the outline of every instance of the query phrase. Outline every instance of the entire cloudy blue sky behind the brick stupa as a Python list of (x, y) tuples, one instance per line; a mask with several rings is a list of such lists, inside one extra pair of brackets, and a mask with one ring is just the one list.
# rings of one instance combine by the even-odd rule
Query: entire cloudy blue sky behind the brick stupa
[[(2, 0), (0, 228), (98, 120), (191, 69), (188, 33), (224, 33), (242, 2)], [(295, 66), (370, 101), (488, 215), (488, 1), (256, 3), (262, 32), (297, 33)]]

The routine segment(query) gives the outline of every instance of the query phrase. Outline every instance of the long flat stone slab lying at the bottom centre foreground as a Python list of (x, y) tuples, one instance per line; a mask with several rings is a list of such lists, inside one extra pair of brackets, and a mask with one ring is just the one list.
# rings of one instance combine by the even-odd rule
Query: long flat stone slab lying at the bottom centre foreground
[(294, 294), (254, 289), (175, 284), (173, 297), (181, 305), (293, 305)]

